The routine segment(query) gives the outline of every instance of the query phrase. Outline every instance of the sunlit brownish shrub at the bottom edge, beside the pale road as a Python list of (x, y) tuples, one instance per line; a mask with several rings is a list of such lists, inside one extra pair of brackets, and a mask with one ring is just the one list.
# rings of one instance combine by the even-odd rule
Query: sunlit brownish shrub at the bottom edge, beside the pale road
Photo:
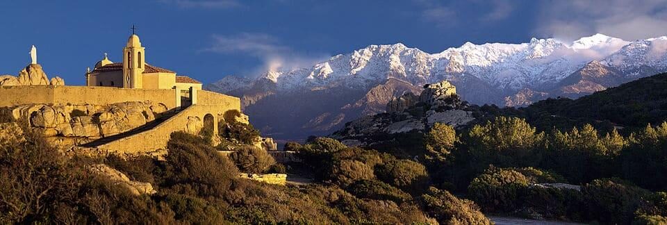
[(492, 224), (474, 202), (458, 199), (445, 190), (431, 187), (419, 200), (425, 212), (440, 224)]

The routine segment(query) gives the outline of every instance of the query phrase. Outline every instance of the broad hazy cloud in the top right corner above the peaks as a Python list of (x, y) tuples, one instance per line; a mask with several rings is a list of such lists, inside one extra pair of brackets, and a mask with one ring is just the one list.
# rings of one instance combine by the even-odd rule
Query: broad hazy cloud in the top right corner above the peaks
[(625, 40), (666, 35), (667, 1), (549, 1), (541, 6), (538, 35), (574, 40), (604, 33)]

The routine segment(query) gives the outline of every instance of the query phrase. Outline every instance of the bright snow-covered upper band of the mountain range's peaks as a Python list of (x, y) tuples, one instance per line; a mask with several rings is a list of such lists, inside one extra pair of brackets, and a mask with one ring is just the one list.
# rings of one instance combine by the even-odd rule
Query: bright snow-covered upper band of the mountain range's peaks
[(667, 49), (667, 37), (627, 42), (598, 33), (569, 43), (554, 38), (532, 38), (520, 44), (466, 42), (440, 53), (426, 53), (402, 43), (369, 45), (312, 67), (272, 68), (260, 78), (277, 83), (279, 90), (296, 90), (338, 84), (365, 86), (392, 77), (422, 85), (468, 74), (497, 88), (518, 90), (556, 83), (585, 63), (604, 60), (613, 54), (623, 53), (623, 57), (617, 57), (623, 62), (644, 58), (645, 52), (664, 56), (664, 51), (639, 51), (648, 45)]

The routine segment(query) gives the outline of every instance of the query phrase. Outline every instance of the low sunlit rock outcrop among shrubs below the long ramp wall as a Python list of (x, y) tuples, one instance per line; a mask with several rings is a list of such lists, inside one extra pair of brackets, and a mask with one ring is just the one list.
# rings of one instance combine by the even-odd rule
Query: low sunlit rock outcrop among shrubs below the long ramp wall
[(156, 190), (153, 189), (153, 185), (151, 185), (151, 183), (131, 181), (130, 178), (128, 178), (125, 174), (109, 167), (108, 165), (96, 164), (90, 166), (88, 169), (90, 169), (90, 172), (94, 174), (109, 178), (109, 180), (113, 182), (114, 185), (127, 188), (130, 190), (130, 192), (132, 192), (132, 194), (140, 195), (156, 193)]

